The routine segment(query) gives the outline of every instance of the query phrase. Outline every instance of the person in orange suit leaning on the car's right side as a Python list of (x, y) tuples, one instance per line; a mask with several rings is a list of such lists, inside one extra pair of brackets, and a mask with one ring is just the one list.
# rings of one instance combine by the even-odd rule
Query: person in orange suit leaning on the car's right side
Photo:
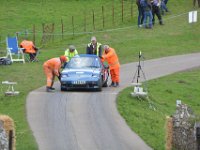
[(101, 57), (101, 60), (104, 62), (105, 60), (108, 62), (111, 74), (112, 83), (110, 87), (119, 86), (119, 69), (120, 64), (118, 60), (118, 56), (115, 50), (108, 45), (104, 45), (104, 53)]

